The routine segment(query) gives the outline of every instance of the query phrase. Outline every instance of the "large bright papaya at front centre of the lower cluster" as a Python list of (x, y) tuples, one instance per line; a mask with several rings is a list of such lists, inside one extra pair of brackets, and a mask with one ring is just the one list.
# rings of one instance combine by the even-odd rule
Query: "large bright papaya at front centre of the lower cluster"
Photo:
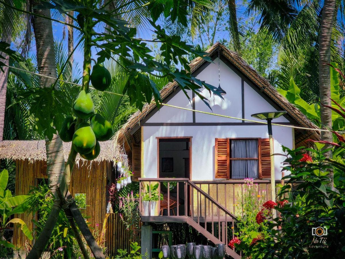
[(73, 135), (72, 147), (80, 155), (90, 153), (96, 146), (96, 136), (92, 128), (86, 122), (78, 125), (76, 132)]

